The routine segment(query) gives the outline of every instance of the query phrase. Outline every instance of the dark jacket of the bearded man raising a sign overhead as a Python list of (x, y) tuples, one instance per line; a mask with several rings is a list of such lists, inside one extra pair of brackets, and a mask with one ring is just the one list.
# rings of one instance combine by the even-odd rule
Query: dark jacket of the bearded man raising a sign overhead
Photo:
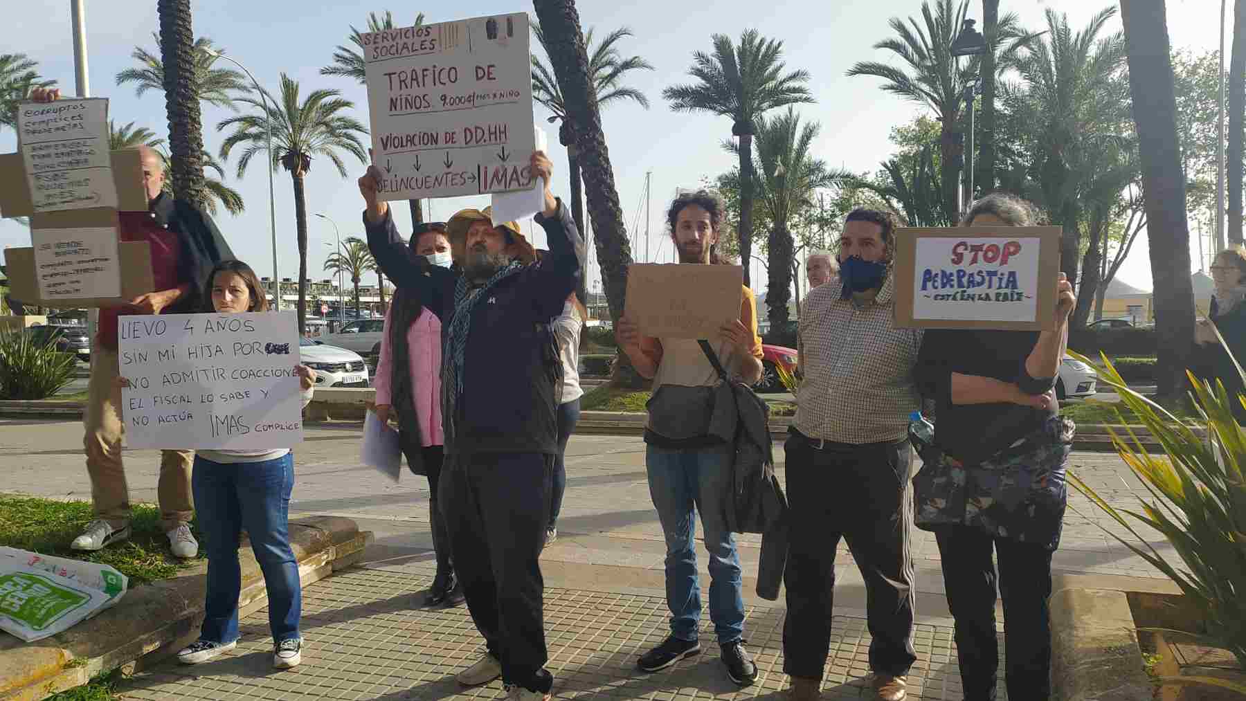
[[(551, 320), (583, 275), (584, 242), (567, 207), (536, 222), (549, 255), (500, 281), (472, 310), (464, 359), (462, 395), (447, 397), (446, 454), (558, 452), (558, 392), (562, 362)], [(455, 315), (459, 274), (411, 256), (392, 215), (371, 224), (364, 214), (368, 248), (381, 271), (441, 319), (442, 349)], [(451, 362), (442, 355), (442, 362)], [(452, 406), (451, 406), (452, 405)]]

